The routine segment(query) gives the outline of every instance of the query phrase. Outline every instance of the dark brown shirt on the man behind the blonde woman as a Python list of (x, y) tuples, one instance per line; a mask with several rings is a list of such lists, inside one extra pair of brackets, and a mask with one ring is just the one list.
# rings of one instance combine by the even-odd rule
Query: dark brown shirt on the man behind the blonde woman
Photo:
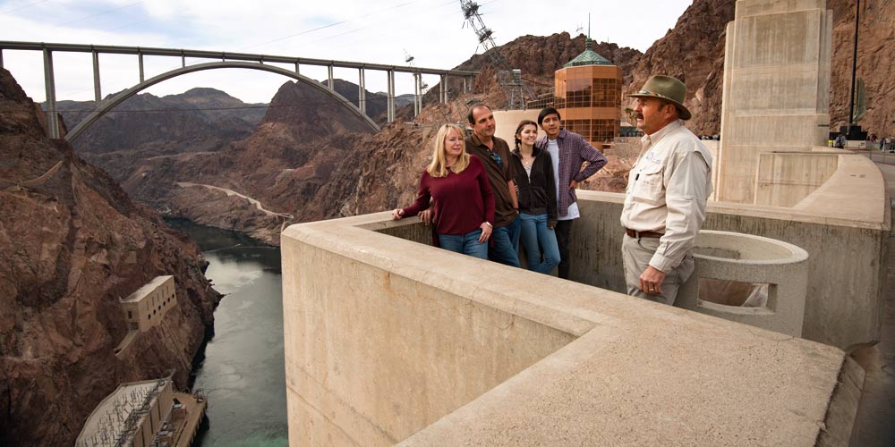
[[(488, 174), (488, 182), (491, 191), (494, 192), (494, 226), (507, 226), (516, 220), (516, 209), (513, 208), (513, 198), (510, 197), (509, 184), (516, 178), (516, 168), (510, 159), (509, 145), (504, 139), (493, 137), (494, 156), (491, 149), (482, 144), (474, 133), (466, 138), (466, 151), (473, 156), (478, 156), (485, 165), (485, 173)], [(499, 161), (498, 161), (499, 160)]]

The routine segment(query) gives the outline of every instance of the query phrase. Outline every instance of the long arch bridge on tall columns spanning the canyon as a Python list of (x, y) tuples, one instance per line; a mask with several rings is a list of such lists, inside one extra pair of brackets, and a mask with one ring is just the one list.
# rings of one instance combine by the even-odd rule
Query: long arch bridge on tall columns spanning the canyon
[[(462, 70), (444, 70), (434, 68), (423, 68), (402, 65), (387, 65), (381, 63), (359, 63), (348, 61), (336, 61), (327, 59), (313, 59), (296, 56), (280, 56), (280, 55), (255, 55), (246, 53), (229, 53), (205, 50), (185, 50), (173, 48), (149, 48), (141, 46), (98, 46), (98, 45), (80, 45), (80, 44), (60, 44), (60, 43), (44, 43), (44, 42), (16, 42), (16, 41), (0, 41), (0, 68), (4, 68), (3, 55), (4, 50), (26, 50), (41, 51), (44, 59), (44, 85), (47, 90), (47, 131), (50, 138), (60, 138), (59, 116), (56, 110), (55, 97), (55, 72), (53, 70), (53, 53), (54, 52), (74, 52), (74, 53), (90, 53), (93, 55), (93, 89), (95, 104), (97, 109), (91, 113), (85, 120), (78, 123), (72, 131), (66, 135), (69, 141), (76, 139), (81, 133), (87, 129), (90, 124), (96, 122), (103, 114), (120, 105), (125, 99), (132, 97), (150, 86), (158, 84), (164, 80), (169, 80), (176, 76), (180, 76), (192, 72), (200, 72), (203, 70), (213, 70), (220, 68), (243, 68), (250, 70), (260, 70), (264, 72), (273, 72), (284, 75), (286, 77), (303, 82), (315, 89), (334, 97), (341, 104), (349, 108), (354, 114), (358, 114), (367, 122), (371, 129), (379, 131), (379, 126), (373, 122), (366, 114), (366, 89), (365, 89), (365, 71), (372, 70), (378, 72), (387, 72), (388, 74), (388, 121), (395, 120), (395, 72), (405, 72), (413, 74), (414, 81), (414, 101), (413, 112), (419, 114), (422, 110), (422, 75), (433, 74), (440, 76), (439, 100), (447, 103), (448, 91), (444, 86), (448, 76), (463, 79), (463, 91), (467, 91), (471, 85), (473, 76), (478, 72), (462, 71)], [(99, 80), (99, 55), (115, 54), (115, 55), (136, 55), (140, 69), (140, 82), (130, 89), (115, 95), (115, 97), (102, 99), (102, 89)], [(144, 79), (143, 75), (143, 56), (144, 55), (160, 55), (175, 56), (181, 58), (181, 68), (165, 72), (155, 76), (149, 80)], [(187, 65), (186, 58), (214, 59), (219, 62), (198, 63)], [(268, 63), (291, 63), (294, 64), (294, 72), (286, 70), (277, 65)], [(324, 87), (320, 82), (312, 80), (299, 73), (301, 65), (325, 66), (328, 68), (328, 86)], [(358, 104), (354, 105), (342, 95), (339, 95), (333, 89), (333, 68), (351, 68), (358, 71)]]

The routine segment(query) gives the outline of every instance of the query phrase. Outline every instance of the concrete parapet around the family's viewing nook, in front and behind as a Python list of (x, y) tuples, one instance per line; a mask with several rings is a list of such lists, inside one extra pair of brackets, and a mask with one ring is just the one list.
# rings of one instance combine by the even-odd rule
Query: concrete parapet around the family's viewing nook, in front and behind
[[(581, 192), (575, 274), (615, 281), (620, 196)], [(290, 445), (846, 445), (842, 350), (449, 253), (415, 221), (284, 232)]]

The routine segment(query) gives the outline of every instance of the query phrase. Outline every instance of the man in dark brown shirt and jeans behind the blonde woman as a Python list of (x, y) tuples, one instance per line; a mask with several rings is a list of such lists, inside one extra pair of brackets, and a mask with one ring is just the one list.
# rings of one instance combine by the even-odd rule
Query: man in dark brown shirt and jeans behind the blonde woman
[(516, 198), (516, 169), (511, 163), (509, 145), (494, 136), (496, 122), (488, 105), (473, 105), (466, 117), (473, 135), (466, 138), (466, 150), (485, 165), (488, 182), (494, 192), (493, 245), (488, 257), (507, 266), (519, 266), (519, 202)]

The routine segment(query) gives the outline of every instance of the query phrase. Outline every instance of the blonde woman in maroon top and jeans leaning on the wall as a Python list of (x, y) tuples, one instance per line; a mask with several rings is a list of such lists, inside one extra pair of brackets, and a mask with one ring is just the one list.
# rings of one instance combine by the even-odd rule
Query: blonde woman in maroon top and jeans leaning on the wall
[(432, 162), (422, 172), (413, 205), (396, 208), (394, 219), (417, 215), (433, 202), (432, 222), (442, 249), (488, 258), (494, 194), (482, 161), (466, 152), (463, 129), (445, 124), (435, 137)]

